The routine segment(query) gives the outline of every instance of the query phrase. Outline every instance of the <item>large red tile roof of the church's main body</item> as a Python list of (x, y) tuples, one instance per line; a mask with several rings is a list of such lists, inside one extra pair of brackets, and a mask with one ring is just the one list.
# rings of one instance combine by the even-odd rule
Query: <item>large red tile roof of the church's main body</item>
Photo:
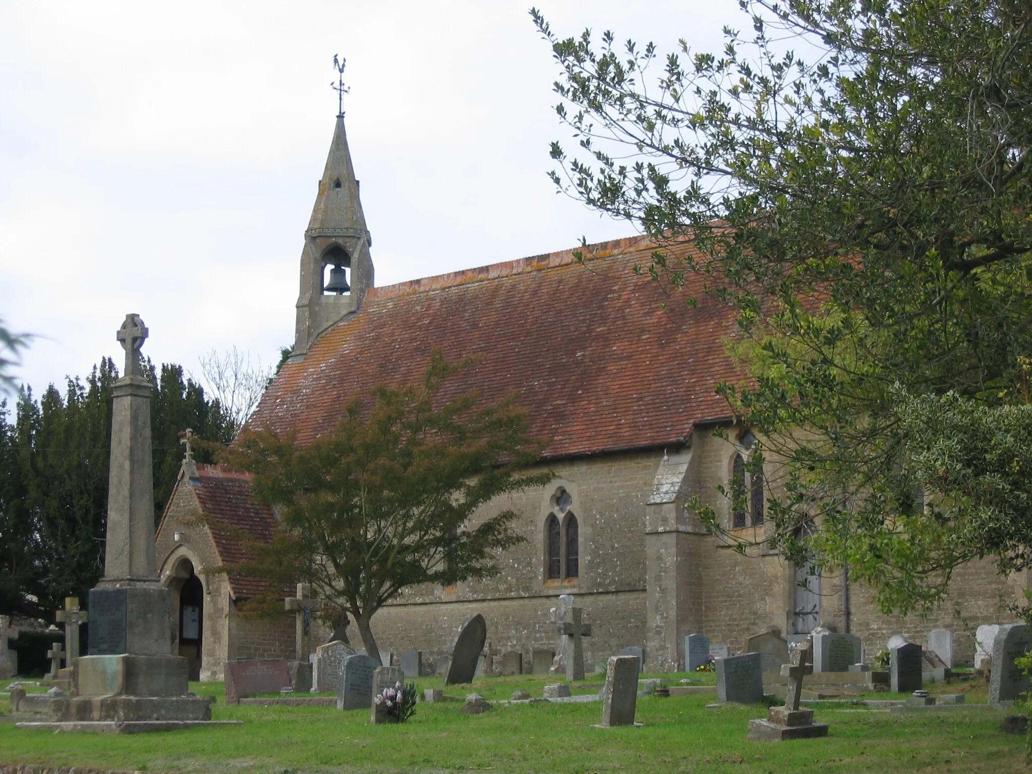
[(734, 320), (701, 284), (668, 296), (632, 273), (653, 249), (620, 239), (588, 248), (583, 264), (563, 251), (374, 288), (283, 366), (251, 423), (303, 443), (377, 384), (418, 380), (440, 347), (452, 360), (483, 356), (442, 396), (515, 390), (533, 434), (550, 440), (545, 458), (683, 441), (694, 423), (731, 415), (713, 389), (740, 378), (724, 350)]

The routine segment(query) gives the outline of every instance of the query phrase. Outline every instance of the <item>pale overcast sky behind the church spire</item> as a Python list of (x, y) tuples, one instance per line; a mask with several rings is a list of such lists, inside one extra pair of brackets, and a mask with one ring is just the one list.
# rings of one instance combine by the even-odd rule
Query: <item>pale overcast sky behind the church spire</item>
[[(38, 392), (122, 351), (199, 376), (292, 344), (347, 57), (376, 284), (634, 233), (557, 196), (557, 71), (523, 2), (0, 0), (0, 317)], [(737, 0), (540, 0), (563, 34), (718, 50)], [(570, 144), (573, 144), (572, 142)]]

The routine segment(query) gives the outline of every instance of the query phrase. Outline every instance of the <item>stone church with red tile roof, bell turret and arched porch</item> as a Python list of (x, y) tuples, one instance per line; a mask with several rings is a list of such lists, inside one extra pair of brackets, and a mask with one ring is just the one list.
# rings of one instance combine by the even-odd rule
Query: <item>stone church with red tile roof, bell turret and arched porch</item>
[[(647, 670), (671, 671), (681, 668), (691, 633), (740, 652), (768, 627), (805, 634), (818, 623), (860, 635), (869, 654), (892, 634), (924, 643), (931, 628), (953, 628), (963, 664), (973, 656), (974, 628), (1009, 620), (1007, 603), (1023, 599), (1024, 574), (1005, 579), (976, 562), (957, 573), (939, 611), (884, 616), (845, 573), (807, 582), (805, 570), (776, 554), (743, 556), (707, 535), (687, 498), (699, 494), (736, 535), (760, 538), (770, 528), (765, 496), (777, 471), (744, 476), (745, 512), (732, 513), (717, 492), (754, 440), (714, 394), (717, 383), (739, 378), (725, 352), (734, 322), (698, 289), (697, 308), (664, 305), (660, 287), (632, 272), (649, 261), (641, 238), (595, 245), (583, 261), (563, 251), (387, 287), (374, 284), (372, 244), (337, 118), (304, 231), (293, 354), (250, 421), (301, 442), (329, 432), (353, 397), (418, 379), (440, 347), (449, 359), (482, 356), (447, 390), (476, 389), (485, 400), (518, 394), (533, 434), (548, 442), (541, 467), (555, 476), (497, 504), (520, 514), (526, 539), (501, 556), (501, 574), (409, 589), (373, 619), (381, 652), (415, 648), (433, 659), (480, 612), (493, 647), (522, 651), (529, 665), (533, 650), (554, 647), (549, 611), (571, 593), (592, 621), (587, 664), (637, 645)], [(728, 440), (713, 434), (717, 426)], [(179, 600), (180, 652), (195, 679), (221, 679), (230, 658), (295, 657), (292, 616), (241, 615), (240, 604), (263, 586), (211, 573), (243, 557), (244, 534), (276, 528), (272, 509), (251, 501), (246, 474), (184, 463), (158, 561)], [(318, 644), (328, 632), (316, 635)]]

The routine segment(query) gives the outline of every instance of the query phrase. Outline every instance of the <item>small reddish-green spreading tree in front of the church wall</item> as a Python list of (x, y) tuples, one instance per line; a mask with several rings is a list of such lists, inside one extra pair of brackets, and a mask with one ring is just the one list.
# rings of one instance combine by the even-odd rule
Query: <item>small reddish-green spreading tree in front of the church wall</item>
[(404, 589), (495, 575), (495, 553), (523, 539), (512, 510), (481, 509), (552, 476), (520, 473), (543, 446), (512, 398), (442, 396), (469, 367), (434, 352), (421, 383), (377, 387), (372, 407), (356, 398), (332, 433), (307, 445), (246, 428), (226, 459), (254, 474), (254, 496), (277, 509), (281, 529), (268, 545), (249, 545), (256, 558), (225, 570), (270, 580), (256, 602), (280, 614), (276, 589), (311, 583), (354, 618), (378, 659), (370, 621)]

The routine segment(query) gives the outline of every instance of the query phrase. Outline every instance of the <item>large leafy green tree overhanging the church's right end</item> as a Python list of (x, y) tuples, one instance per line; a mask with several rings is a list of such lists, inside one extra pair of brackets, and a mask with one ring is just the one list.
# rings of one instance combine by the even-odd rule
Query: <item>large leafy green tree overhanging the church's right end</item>
[(847, 566), (885, 610), (936, 604), (974, 557), (1028, 567), (1032, 511), (975, 491), (1032, 438), (1028, 3), (742, 7), (750, 41), (682, 41), (654, 79), (651, 43), (563, 39), (531, 10), (579, 137), (553, 180), (656, 241), (643, 273), (737, 314), (749, 378), (721, 392), (763, 433), (750, 464), (782, 465), (773, 547)]

